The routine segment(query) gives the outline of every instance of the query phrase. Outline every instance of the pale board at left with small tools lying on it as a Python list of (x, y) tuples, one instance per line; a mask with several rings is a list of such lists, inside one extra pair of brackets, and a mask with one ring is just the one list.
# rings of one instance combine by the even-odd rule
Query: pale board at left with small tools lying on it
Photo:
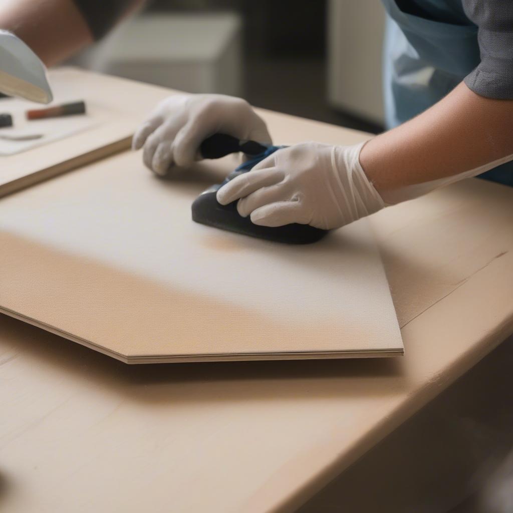
[(27, 122), (24, 113), (39, 108), (36, 104), (0, 100), (2, 112), (14, 118), (14, 126), (1, 129), (0, 134), (43, 135), (26, 142), (0, 140), (0, 197), (130, 147), (136, 120), (112, 101), (116, 89), (120, 95), (121, 84), (103, 90), (94, 78), (81, 80), (86, 76), (73, 69), (49, 75), (55, 97), (50, 107), (83, 100), (86, 115)]

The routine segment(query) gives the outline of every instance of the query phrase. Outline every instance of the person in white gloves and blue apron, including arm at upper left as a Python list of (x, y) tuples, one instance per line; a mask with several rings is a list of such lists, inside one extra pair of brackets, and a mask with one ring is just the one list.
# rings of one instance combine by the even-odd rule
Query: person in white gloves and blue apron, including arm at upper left
[[(281, 149), (222, 187), (220, 203), (238, 201), (255, 224), (332, 229), (489, 170), (488, 179), (513, 185), (513, 2), (383, 1), (389, 129), (357, 145)], [(143, 3), (17, 0), (0, 12), (0, 26), (51, 65)], [(191, 164), (216, 131), (270, 143), (243, 100), (185, 95), (157, 106), (133, 146), (144, 147), (145, 164), (164, 173)]]

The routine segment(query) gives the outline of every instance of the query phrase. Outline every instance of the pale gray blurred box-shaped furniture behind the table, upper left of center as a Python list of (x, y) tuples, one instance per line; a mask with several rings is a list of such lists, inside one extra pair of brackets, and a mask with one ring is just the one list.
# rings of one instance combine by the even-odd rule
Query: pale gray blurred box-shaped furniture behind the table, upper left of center
[(241, 17), (234, 12), (135, 16), (76, 64), (192, 93), (239, 96)]

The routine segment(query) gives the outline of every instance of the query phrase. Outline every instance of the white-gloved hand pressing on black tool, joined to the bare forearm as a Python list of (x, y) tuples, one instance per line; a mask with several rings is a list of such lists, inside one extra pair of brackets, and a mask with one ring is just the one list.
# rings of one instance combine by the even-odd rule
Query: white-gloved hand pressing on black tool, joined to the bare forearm
[(344, 226), (385, 207), (360, 165), (364, 144), (283, 148), (221, 187), (216, 197), (222, 205), (239, 200), (239, 213), (261, 226)]

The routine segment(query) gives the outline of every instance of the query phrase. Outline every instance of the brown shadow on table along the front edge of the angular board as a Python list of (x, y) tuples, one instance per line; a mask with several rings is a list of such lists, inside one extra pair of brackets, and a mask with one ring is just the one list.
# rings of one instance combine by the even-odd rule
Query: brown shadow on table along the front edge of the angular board
[(2, 314), (0, 332), (0, 348), (14, 355), (4, 358), (6, 365), (26, 356), (49, 372), (73, 374), (106, 393), (151, 403), (380, 397), (407, 385), (401, 357), (127, 365)]

